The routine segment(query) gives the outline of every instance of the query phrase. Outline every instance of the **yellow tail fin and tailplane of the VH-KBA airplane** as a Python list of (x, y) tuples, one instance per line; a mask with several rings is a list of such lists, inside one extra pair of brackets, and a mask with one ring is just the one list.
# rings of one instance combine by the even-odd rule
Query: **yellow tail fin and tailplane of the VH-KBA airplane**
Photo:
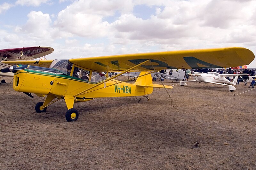
[[(147, 73), (149, 73), (149, 72), (142, 71), (142, 72), (140, 72), (139, 76), (147, 74)], [(147, 75), (138, 77), (135, 82), (135, 85), (140, 86), (140, 87), (148, 87), (148, 88), (164, 88), (165, 87), (167, 89), (172, 89), (172, 86), (167, 86), (167, 85), (163, 86), (161, 84), (153, 84), (151, 74), (147, 74)]]

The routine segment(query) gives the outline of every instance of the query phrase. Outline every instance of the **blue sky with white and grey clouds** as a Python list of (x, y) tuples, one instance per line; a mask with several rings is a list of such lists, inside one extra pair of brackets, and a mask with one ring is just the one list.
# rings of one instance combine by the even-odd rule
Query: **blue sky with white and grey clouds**
[(48, 60), (229, 46), (256, 54), (256, 0), (0, 0), (0, 49), (29, 46), (54, 48)]

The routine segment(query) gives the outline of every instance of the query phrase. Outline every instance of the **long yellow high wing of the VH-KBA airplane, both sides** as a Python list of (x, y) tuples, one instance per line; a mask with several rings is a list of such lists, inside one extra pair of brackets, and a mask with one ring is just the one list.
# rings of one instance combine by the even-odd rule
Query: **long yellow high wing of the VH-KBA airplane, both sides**
[[(177, 68), (221, 68), (250, 64), (254, 54), (242, 47), (182, 50), (155, 53), (137, 53), (102, 57), (69, 59), (73, 64), (98, 72), (125, 71), (146, 60), (144, 65), (132, 71), (152, 71)], [(49, 67), (53, 60), (40, 60), (35, 66)], [(6, 64), (34, 65), (35, 61), (4, 61)]]

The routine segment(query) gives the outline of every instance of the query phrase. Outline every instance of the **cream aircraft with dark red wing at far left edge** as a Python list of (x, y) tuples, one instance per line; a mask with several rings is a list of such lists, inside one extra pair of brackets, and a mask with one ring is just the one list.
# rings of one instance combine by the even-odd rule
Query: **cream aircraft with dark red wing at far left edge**
[[(10, 48), (0, 50), (0, 75), (2, 76), (13, 76), (12, 72), (4, 71), (2, 69), (9, 69), (10, 65), (3, 63), (3, 61), (8, 60), (33, 60), (37, 58), (44, 57), (54, 50), (51, 47), (22, 47), (22, 48)], [(43, 58), (42, 58), (43, 59)], [(34, 61), (35, 62), (35, 61)], [(1, 72), (1, 70), (3, 72)]]

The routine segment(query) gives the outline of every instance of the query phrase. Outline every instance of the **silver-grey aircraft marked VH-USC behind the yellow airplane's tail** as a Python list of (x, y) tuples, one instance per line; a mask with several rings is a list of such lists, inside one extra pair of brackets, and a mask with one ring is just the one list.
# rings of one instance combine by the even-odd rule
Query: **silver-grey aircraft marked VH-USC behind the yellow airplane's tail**
[[(132, 79), (132, 77), (133, 78), (138, 77), (140, 75), (140, 72), (124, 73), (123, 75), (131, 77), (131, 79)], [(156, 72), (156, 73), (151, 73), (151, 76), (155, 77), (155, 78), (160, 78), (160, 79), (164, 79), (164, 80), (171, 80), (171, 81), (177, 81), (178, 82), (178, 81), (181, 81), (181, 80), (184, 79), (185, 71), (176, 70), (172, 73), (172, 75), (167, 75), (167, 74)]]

